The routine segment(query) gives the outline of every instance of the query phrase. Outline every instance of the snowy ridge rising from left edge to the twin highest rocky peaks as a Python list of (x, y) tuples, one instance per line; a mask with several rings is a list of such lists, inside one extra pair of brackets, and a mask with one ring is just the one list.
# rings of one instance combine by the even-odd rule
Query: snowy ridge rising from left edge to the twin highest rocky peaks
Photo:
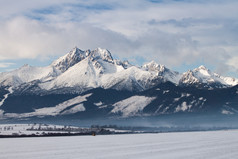
[(22, 83), (34, 80), (40, 80), (42, 82), (49, 81), (61, 75), (86, 57), (91, 58), (91, 60), (102, 59), (106, 62), (113, 62), (111, 54), (107, 50), (98, 48), (93, 51), (82, 51), (78, 48), (74, 48), (68, 54), (55, 60), (47, 67), (24, 65), (14, 71), (0, 73), (0, 85), (17, 87)]

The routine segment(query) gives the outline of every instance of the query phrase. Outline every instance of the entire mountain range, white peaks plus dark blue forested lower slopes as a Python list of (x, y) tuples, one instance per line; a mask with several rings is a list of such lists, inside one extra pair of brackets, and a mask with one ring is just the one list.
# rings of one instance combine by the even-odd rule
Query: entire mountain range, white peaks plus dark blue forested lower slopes
[(238, 113), (238, 80), (200, 66), (179, 73), (75, 47), (46, 67), (0, 73), (0, 118)]

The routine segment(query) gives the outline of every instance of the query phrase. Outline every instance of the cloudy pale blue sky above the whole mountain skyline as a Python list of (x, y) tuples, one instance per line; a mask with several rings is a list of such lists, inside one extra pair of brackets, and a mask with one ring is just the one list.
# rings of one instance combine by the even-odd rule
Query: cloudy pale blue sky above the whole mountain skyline
[(236, 0), (0, 0), (0, 72), (48, 65), (77, 46), (238, 78), (237, 8)]

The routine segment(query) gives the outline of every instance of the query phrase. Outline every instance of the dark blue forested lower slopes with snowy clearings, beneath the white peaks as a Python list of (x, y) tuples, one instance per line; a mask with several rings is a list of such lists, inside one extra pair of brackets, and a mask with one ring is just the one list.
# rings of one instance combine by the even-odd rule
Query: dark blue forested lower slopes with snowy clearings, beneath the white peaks
[(238, 86), (209, 90), (165, 82), (141, 92), (96, 88), (84, 93), (12, 93), (0, 108), (4, 118), (104, 119), (173, 114), (237, 116), (237, 92)]

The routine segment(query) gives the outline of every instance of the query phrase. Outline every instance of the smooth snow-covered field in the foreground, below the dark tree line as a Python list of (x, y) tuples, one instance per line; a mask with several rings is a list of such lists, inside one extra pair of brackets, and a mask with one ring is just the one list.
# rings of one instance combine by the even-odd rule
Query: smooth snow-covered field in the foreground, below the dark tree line
[(0, 139), (1, 159), (227, 159), (238, 130)]

